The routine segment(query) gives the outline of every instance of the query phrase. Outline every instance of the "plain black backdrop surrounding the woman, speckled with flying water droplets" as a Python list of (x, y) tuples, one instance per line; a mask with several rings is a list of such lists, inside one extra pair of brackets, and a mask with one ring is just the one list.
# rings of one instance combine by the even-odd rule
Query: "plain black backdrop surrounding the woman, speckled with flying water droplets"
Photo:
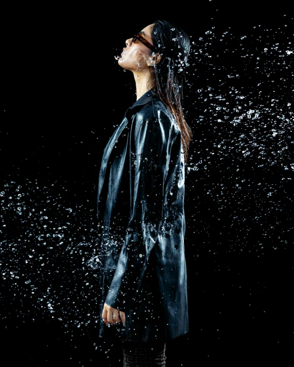
[(13, 8), (2, 18), (3, 367), (121, 365), (86, 260), (103, 149), (135, 100), (117, 65), (156, 19), (191, 36), (184, 108), (190, 331), (167, 365), (279, 361), (293, 345), (293, 19), (284, 2)]

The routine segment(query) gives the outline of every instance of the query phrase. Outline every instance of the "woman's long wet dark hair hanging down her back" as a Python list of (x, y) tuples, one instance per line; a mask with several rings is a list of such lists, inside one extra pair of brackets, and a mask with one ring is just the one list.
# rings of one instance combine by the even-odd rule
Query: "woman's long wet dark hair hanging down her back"
[(175, 116), (187, 162), (193, 134), (182, 109), (182, 83), (185, 81), (186, 67), (189, 66), (190, 40), (181, 28), (167, 21), (155, 21), (151, 37), (161, 55), (160, 62), (154, 67), (153, 91)]

